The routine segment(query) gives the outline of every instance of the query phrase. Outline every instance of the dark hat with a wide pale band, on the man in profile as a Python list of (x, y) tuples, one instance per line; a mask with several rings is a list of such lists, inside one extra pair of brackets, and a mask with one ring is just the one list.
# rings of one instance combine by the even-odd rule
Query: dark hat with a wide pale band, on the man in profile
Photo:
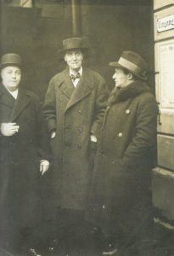
[(119, 61), (109, 62), (109, 66), (126, 68), (139, 79), (148, 79), (148, 64), (133, 51), (123, 51)]

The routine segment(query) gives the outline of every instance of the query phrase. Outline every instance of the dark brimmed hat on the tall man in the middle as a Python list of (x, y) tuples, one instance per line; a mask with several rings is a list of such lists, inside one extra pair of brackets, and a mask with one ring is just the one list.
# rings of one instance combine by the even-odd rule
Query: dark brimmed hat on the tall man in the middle
[(64, 54), (69, 49), (81, 49), (82, 52), (86, 52), (88, 47), (82, 38), (67, 38), (63, 40), (63, 48), (59, 49), (58, 53)]

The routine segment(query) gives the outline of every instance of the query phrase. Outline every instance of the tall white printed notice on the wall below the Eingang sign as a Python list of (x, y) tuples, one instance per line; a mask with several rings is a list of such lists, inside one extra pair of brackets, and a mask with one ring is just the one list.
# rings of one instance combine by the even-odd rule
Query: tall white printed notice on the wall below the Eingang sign
[(161, 108), (174, 108), (174, 40), (159, 45)]

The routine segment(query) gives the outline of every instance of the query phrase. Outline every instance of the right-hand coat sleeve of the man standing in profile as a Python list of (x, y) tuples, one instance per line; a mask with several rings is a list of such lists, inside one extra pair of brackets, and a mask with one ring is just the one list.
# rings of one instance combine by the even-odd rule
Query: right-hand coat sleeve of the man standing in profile
[(158, 106), (154, 96), (144, 96), (138, 104), (135, 113), (136, 127), (131, 143), (126, 148), (122, 158), (123, 166), (132, 166), (141, 162), (144, 155), (150, 154), (156, 143)]

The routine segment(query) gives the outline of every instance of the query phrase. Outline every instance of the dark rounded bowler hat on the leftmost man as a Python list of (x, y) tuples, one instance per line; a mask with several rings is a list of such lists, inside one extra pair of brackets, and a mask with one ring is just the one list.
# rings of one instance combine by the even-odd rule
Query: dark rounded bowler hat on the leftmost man
[(20, 55), (15, 53), (8, 53), (1, 57), (0, 67), (7, 67), (7, 66), (18, 66), (21, 67), (22, 61)]

